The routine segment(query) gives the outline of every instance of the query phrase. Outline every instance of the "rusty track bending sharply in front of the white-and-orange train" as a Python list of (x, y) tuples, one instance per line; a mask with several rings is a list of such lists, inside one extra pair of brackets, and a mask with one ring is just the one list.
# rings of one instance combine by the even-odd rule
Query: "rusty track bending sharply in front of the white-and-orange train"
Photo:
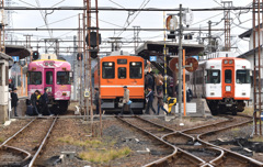
[(202, 125), (182, 132), (167, 134), (162, 138), (176, 147), (198, 156), (210, 166), (263, 166), (263, 164), (258, 160), (202, 140), (204, 135), (213, 135), (216, 132), (242, 126), (251, 122), (251, 118), (244, 115), (241, 116), (244, 118), (241, 121), (237, 118), (228, 118), (227, 121), (219, 123)]

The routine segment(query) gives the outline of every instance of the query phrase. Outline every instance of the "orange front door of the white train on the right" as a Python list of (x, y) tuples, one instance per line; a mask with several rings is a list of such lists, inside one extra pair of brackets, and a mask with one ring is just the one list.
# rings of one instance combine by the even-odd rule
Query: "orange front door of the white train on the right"
[(233, 98), (235, 96), (235, 67), (222, 67), (222, 98)]

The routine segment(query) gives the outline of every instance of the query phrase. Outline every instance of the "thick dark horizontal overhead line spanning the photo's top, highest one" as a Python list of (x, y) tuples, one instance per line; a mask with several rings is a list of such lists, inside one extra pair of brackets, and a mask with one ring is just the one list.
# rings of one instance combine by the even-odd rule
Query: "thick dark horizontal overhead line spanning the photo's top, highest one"
[[(4, 10), (87, 10), (87, 7), (56, 7), (56, 8), (31, 8), (31, 7), (2, 7), (0, 9)], [(253, 9), (251, 7), (231, 7), (231, 8), (224, 8), (224, 7), (218, 7), (218, 8), (203, 8), (203, 9), (194, 9), (192, 8), (192, 11), (224, 11), (224, 10), (250, 10)], [(91, 12), (95, 12), (95, 8), (91, 8)], [(167, 8), (167, 9), (161, 9), (161, 8), (144, 8), (144, 9), (136, 9), (136, 8), (111, 8), (111, 7), (100, 7), (98, 8), (99, 11), (172, 11), (172, 12), (178, 12), (180, 11), (179, 8)]]

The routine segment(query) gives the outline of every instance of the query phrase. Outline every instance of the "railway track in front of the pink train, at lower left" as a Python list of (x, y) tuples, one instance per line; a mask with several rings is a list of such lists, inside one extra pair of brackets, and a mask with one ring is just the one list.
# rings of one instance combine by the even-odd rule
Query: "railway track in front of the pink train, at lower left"
[(5, 140), (0, 145), (0, 166), (28, 165), (28, 167), (32, 167), (57, 119), (57, 116), (54, 119), (35, 118), (14, 135)]

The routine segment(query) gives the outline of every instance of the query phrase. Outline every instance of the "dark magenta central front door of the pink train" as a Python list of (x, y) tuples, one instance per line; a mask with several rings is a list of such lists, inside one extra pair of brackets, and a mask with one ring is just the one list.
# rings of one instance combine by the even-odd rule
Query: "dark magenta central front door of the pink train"
[(48, 96), (53, 96), (54, 93), (54, 69), (53, 68), (46, 68), (44, 69), (44, 88), (48, 88)]

